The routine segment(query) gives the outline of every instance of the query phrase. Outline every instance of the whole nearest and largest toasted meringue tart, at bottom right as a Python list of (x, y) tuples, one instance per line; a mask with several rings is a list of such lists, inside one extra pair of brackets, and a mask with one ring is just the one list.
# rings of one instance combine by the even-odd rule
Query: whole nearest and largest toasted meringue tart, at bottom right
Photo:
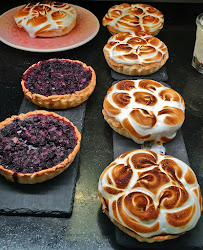
[(202, 211), (192, 169), (177, 158), (149, 150), (116, 158), (102, 172), (98, 192), (111, 221), (141, 242), (177, 238), (195, 227)]

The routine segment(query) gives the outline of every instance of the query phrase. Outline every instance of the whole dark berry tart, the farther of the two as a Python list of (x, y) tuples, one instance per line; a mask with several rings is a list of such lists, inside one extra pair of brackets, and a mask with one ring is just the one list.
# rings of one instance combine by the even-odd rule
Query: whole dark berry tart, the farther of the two
[(69, 59), (49, 59), (33, 64), (21, 81), (25, 97), (48, 109), (80, 105), (92, 94), (95, 84), (92, 67)]

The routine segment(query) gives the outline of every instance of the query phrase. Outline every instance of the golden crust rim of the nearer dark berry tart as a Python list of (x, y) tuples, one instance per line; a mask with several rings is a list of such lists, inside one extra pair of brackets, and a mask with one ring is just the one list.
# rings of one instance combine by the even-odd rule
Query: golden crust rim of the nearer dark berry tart
[(63, 171), (65, 171), (69, 167), (69, 165), (73, 162), (77, 152), (79, 151), (81, 134), (78, 131), (77, 127), (75, 127), (73, 125), (73, 123), (70, 122), (67, 118), (62, 117), (54, 112), (47, 112), (45, 110), (35, 110), (35, 111), (28, 112), (26, 114), (22, 113), (18, 116), (14, 115), (10, 118), (7, 118), (3, 122), (1, 122), (0, 129), (2, 129), (4, 126), (12, 123), (13, 120), (16, 118), (24, 120), (26, 117), (37, 115), (37, 114), (42, 114), (45, 116), (46, 115), (53, 116), (55, 118), (62, 119), (63, 121), (70, 123), (74, 127), (74, 130), (75, 130), (75, 136), (77, 138), (76, 146), (75, 146), (74, 150), (68, 155), (68, 157), (64, 161), (62, 161), (61, 163), (59, 163), (56, 166), (53, 166), (51, 168), (44, 169), (44, 170), (41, 170), (38, 172), (34, 172), (34, 173), (14, 172), (14, 171), (6, 169), (2, 165), (0, 165), (0, 174), (3, 175), (8, 181), (11, 181), (11, 182), (17, 181), (20, 184), (35, 184), (35, 183), (44, 182), (46, 180), (50, 180), (50, 179), (56, 177), (57, 175), (61, 174)]

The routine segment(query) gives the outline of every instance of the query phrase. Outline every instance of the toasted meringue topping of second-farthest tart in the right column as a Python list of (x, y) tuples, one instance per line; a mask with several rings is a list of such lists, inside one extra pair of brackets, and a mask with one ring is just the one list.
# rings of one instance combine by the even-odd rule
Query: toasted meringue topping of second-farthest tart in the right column
[(160, 62), (167, 52), (162, 41), (145, 32), (116, 34), (104, 46), (107, 57), (126, 65)]

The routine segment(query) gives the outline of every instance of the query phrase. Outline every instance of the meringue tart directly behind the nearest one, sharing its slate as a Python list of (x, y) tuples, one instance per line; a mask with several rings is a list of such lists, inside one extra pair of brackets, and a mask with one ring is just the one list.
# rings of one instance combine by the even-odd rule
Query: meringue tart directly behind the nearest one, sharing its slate
[(172, 140), (185, 118), (182, 96), (150, 79), (119, 81), (108, 90), (103, 107), (108, 124), (138, 144)]

